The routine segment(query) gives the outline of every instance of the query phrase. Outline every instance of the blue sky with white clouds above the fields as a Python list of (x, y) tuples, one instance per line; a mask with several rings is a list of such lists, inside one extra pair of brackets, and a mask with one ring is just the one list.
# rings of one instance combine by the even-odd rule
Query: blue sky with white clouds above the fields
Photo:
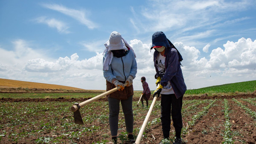
[(104, 43), (117, 31), (156, 89), (154, 32), (183, 56), (187, 89), (256, 80), (256, 0), (0, 0), (0, 78), (106, 89)]

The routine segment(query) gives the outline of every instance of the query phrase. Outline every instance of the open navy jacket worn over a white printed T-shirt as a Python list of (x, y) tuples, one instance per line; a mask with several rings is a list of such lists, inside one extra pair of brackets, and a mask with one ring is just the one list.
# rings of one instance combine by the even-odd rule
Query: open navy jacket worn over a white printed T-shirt
[(168, 81), (170, 81), (172, 85), (172, 89), (175, 93), (176, 98), (180, 98), (186, 92), (186, 84), (184, 82), (183, 74), (180, 68), (180, 56), (175, 48), (166, 47), (164, 56), (165, 59), (165, 69), (166, 72), (164, 75), (160, 75), (156, 66), (156, 59), (159, 52), (154, 52), (154, 66), (156, 69), (155, 78), (161, 78), (160, 84), (162, 86), (166, 86)]

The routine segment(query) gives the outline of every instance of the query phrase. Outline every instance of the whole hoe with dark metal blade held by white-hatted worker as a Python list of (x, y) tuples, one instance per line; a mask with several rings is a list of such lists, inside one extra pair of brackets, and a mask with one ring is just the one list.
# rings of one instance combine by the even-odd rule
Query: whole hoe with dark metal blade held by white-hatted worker
[[(124, 86), (127, 86), (127, 84), (128, 84), (128, 83), (125, 83)], [(111, 94), (112, 92), (115, 92), (115, 91), (117, 91), (117, 90), (120, 89), (120, 88), (121, 88), (120, 86), (117, 86), (116, 88), (113, 88), (113, 89), (111, 89), (111, 90), (109, 90), (109, 91), (107, 91), (107, 92), (104, 92), (104, 93), (102, 93), (102, 94), (100, 94), (100, 95), (97, 95), (97, 96), (95, 96), (95, 97), (93, 97), (93, 98), (90, 98), (90, 99), (88, 99), (88, 100), (86, 100), (86, 101), (84, 101), (84, 102), (75, 103), (75, 105), (73, 105), (73, 106), (71, 107), (71, 111), (74, 112), (75, 124), (84, 124), (83, 119), (82, 119), (82, 117), (81, 117), (81, 113), (80, 113), (80, 111), (79, 111), (79, 109), (80, 109), (81, 107), (84, 107), (85, 105), (90, 104), (90, 103), (92, 103), (93, 101), (96, 101), (96, 100), (98, 100), (98, 99), (100, 99), (100, 98), (102, 98), (102, 97), (104, 97), (104, 96), (106, 96), (106, 95), (109, 95), (109, 94)]]

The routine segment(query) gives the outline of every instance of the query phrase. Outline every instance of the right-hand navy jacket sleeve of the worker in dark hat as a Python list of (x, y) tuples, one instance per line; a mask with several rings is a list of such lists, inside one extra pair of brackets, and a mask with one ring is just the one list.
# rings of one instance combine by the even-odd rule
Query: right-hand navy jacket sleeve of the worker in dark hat
[(160, 82), (162, 86), (166, 86), (168, 81), (171, 81), (172, 78), (176, 75), (177, 67), (180, 63), (179, 55), (177, 54), (176, 49), (172, 49), (168, 55), (168, 59), (166, 60), (168, 62), (168, 67), (166, 68), (166, 72)]

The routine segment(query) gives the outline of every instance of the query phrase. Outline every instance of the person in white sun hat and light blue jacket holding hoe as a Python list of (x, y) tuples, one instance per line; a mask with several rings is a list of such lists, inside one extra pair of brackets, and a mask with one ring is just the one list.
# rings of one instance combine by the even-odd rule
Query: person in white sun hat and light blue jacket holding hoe
[[(121, 101), (128, 139), (129, 142), (134, 143), (132, 109), (134, 89), (132, 83), (137, 73), (136, 55), (119, 32), (112, 32), (109, 40), (104, 45), (106, 49), (103, 52), (103, 74), (106, 79), (107, 91), (117, 86), (121, 87), (121, 90), (107, 95), (112, 141), (117, 143), (119, 103)], [(124, 86), (126, 82), (128, 82), (128, 85)]]

